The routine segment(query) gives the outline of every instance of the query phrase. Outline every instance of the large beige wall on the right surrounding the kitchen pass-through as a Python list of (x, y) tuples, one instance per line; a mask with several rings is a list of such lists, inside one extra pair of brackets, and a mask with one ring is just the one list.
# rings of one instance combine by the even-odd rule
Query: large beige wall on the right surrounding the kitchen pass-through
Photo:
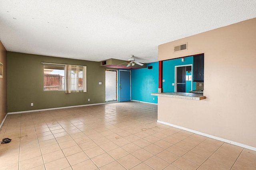
[(256, 18), (159, 45), (159, 61), (204, 53), (206, 100), (159, 97), (158, 120), (256, 147), (255, 30)]

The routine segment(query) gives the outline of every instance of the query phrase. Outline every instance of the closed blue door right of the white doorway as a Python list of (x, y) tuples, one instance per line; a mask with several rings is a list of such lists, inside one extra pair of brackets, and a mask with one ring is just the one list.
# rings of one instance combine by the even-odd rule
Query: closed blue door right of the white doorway
[(119, 70), (119, 102), (126, 102), (131, 100), (130, 75), (130, 70)]

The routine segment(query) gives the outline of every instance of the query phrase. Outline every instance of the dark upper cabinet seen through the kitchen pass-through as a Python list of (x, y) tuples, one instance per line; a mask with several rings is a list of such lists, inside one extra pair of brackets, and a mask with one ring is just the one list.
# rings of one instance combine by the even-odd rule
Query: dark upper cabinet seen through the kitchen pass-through
[(204, 54), (193, 57), (193, 81), (204, 82)]

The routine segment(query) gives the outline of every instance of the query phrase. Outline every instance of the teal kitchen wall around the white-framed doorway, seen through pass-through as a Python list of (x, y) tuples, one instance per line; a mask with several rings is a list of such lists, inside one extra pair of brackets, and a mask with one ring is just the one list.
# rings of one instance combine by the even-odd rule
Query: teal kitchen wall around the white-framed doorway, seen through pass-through
[[(172, 86), (172, 83), (175, 83), (175, 66), (187, 64), (193, 64), (193, 56), (184, 57), (184, 62), (180, 58), (163, 61), (163, 92), (174, 92), (175, 86)], [(196, 83), (193, 82), (193, 90), (195, 89)]]

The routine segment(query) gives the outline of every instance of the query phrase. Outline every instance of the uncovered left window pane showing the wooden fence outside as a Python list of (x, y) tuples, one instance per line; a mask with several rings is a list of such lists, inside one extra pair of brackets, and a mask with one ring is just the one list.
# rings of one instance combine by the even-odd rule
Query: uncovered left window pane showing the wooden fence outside
[(44, 65), (44, 91), (65, 90), (65, 65)]

